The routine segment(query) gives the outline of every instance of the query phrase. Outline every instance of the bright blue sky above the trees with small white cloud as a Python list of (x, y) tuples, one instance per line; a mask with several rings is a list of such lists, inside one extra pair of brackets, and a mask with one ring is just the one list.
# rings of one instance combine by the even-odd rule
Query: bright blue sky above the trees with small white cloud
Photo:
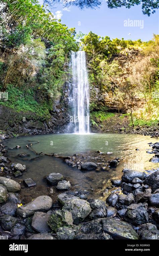
[[(130, 9), (125, 7), (109, 9), (106, 2), (103, 2), (100, 8), (80, 10), (76, 6), (65, 9), (62, 4), (56, 4), (51, 11), (56, 18), (61, 18), (63, 24), (69, 28), (75, 27), (77, 33), (78, 31), (83, 33), (92, 31), (100, 36), (107, 35), (111, 39), (123, 37), (137, 40), (140, 38), (142, 41), (150, 40), (153, 33), (159, 34), (159, 11), (148, 17), (142, 13), (141, 5)], [(140, 21), (139, 26), (136, 26), (134, 20)], [(125, 21), (127, 21), (127, 26), (124, 26)]]

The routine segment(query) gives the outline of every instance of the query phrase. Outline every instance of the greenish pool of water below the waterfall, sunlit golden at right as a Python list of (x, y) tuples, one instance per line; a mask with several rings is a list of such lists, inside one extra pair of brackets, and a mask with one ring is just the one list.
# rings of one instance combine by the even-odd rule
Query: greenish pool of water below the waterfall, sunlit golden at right
[[(37, 143), (38, 141), (39, 143)], [(11, 163), (25, 164), (26, 171), (23, 172), (23, 175), (17, 178), (13, 177), (13, 179), (21, 183), (21, 194), (25, 197), (25, 201), (29, 201), (31, 197), (50, 193), (44, 176), (51, 172), (62, 173), (65, 179), (70, 181), (73, 190), (88, 190), (90, 197), (104, 199), (103, 192), (106, 189), (107, 182), (114, 177), (121, 178), (124, 167), (137, 170), (159, 167), (159, 164), (149, 162), (153, 156), (153, 154), (146, 153), (147, 150), (151, 150), (149, 142), (154, 143), (156, 139), (137, 134), (92, 133), (14, 137), (6, 140), (4, 144), (6, 148), (14, 148), (16, 145), (21, 147), (8, 150), (6, 156), (11, 160)], [(26, 147), (29, 143), (33, 143), (32, 148), (37, 153), (43, 152), (40, 158), (31, 160), (38, 155)], [(137, 148), (139, 151), (136, 151)], [(76, 167), (67, 165), (62, 159), (43, 155), (55, 153), (61, 156), (72, 156), (73, 154), (83, 154), (85, 156), (85, 154), (89, 155), (85, 152), (98, 150), (103, 153), (113, 152), (111, 155), (107, 155), (106, 159), (111, 160), (119, 157), (121, 159), (119, 165), (115, 169), (108, 168), (106, 171), (82, 172)], [(30, 156), (21, 158), (18, 156), (20, 153), (26, 153)], [(86, 161), (85, 158), (84, 161)], [(26, 178), (33, 179), (37, 186), (25, 188), (22, 181)], [(54, 198), (56, 198), (57, 192), (56, 186), (54, 186)]]

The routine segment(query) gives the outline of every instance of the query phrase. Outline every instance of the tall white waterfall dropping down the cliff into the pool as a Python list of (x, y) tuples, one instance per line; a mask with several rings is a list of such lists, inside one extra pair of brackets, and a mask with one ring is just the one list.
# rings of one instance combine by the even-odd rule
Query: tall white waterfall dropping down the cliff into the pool
[(71, 52), (70, 68), (72, 70), (69, 85), (71, 132), (89, 133), (89, 82), (84, 51)]

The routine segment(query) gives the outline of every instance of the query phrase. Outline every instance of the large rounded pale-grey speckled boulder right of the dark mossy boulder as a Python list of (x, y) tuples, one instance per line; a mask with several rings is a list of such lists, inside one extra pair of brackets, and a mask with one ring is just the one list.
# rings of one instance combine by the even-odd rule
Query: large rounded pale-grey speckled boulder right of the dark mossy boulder
[(91, 206), (89, 202), (79, 198), (65, 202), (62, 209), (72, 213), (74, 223), (83, 221), (91, 212)]

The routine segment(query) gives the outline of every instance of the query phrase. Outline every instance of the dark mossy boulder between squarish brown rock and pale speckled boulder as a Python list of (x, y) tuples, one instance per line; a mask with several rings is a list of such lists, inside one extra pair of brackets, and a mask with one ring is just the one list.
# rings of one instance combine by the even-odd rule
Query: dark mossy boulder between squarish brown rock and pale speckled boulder
[(55, 232), (62, 226), (71, 226), (73, 225), (72, 214), (64, 209), (55, 210), (49, 216), (48, 225)]

